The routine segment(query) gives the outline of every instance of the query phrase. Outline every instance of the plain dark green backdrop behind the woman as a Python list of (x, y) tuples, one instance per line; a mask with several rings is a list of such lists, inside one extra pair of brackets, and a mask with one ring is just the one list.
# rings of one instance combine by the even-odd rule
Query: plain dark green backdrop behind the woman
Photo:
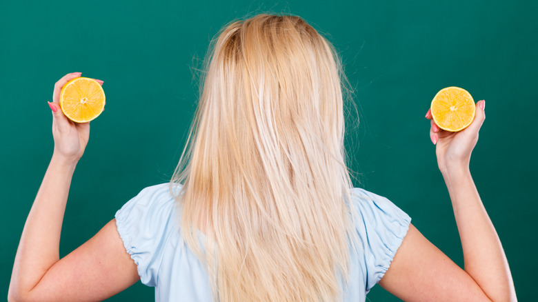
[[(46, 101), (68, 72), (104, 81), (61, 236), (65, 255), (142, 188), (170, 178), (197, 103), (197, 69), (228, 21), (297, 14), (341, 54), (357, 117), (347, 147), (355, 185), (388, 197), (460, 266), (461, 244), (424, 119), (441, 88), (486, 99), (470, 168), (521, 301), (538, 270), (535, 93), (537, 1), (2, 1), (0, 3), (0, 297), (52, 154)], [(457, 289), (455, 289), (457, 290)], [(110, 301), (150, 301), (133, 285)], [(1, 298), (4, 299), (4, 298)], [(380, 286), (370, 301), (397, 301)]]

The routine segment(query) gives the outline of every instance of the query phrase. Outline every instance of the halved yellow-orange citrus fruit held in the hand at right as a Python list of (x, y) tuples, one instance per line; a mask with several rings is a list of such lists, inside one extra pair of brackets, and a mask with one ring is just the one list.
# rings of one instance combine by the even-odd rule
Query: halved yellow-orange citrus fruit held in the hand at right
[(431, 112), (433, 121), (439, 128), (451, 132), (461, 131), (475, 119), (475, 100), (463, 88), (443, 88), (435, 94)]

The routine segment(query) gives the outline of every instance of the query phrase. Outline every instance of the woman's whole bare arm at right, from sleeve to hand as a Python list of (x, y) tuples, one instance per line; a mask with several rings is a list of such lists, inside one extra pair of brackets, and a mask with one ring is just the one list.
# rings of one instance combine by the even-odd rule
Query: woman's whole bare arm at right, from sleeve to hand
[[(471, 125), (461, 132), (431, 121), (437, 163), (450, 194), (464, 270), (410, 225), (379, 284), (404, 301), (517, 301), (504, 250), (472, 180), (469, 161), (484, 122), (485, 102), (477, 103)], [(432, 119), (428, 110), (427, 119)]]

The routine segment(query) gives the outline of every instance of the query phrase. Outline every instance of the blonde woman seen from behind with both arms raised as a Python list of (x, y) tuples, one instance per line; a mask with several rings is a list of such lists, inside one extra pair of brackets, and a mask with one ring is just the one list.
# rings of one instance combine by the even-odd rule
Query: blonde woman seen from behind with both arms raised
[(468, 167), (484, 101), (465, 130), (430, 128), (461, 270), (388, 199), (352, 188), (345, 78), (335, 50), (303, 19), (230, 23), (208, 53), (170, 183), (142, 190), (63, 259), (63, 212), (90, 126), (59, 110), (61, 87), (80, 73), (56, 83), (54, 154), (23, 230), (10, 301), (102, 300), (139, 279), (156, 287), (157, 301), (364, 301), (378, 282), (406, 301), (516, 299)]

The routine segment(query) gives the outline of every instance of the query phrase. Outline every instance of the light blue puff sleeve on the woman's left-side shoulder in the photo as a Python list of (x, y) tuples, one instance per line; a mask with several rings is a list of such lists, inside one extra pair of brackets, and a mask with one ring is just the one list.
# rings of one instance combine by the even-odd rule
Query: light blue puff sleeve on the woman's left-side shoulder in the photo
[(174, 228), (175, 200), (169, 183), (141, 190), (116, 212), (116, 226), (127, 252), (137, 264), (140, 281), (157, 286), (166, 242)]

